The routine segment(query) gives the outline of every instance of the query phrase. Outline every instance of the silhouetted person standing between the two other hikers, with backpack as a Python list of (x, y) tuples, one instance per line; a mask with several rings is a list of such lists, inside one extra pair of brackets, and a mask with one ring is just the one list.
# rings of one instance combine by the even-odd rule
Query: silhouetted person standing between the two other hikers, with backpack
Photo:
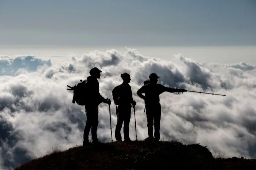
[(117, 107), (117, 124), (115, 130), (115, 137), (117, 141), (122, 141), (121, 128), (124, 123), (124, 141), (131, 141), (129, 138), (129, 123), (131, 120), (131, 107), (136, 105), (132, 98), (132, 89), (129, 85), (131, 77), (128, 73), (121, 74), (123, 83), (116, 86), (113, 91), (113, 100)]

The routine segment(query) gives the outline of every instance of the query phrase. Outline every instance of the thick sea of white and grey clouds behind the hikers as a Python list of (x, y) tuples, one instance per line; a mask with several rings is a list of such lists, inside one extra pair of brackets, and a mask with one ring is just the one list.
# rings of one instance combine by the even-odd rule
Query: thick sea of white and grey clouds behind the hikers
[[(92, 67), (102, 70), (99, 86), (105, 98), (112, 98), (121, 73), (131, 75), (138, 139), (148, 136), (144, 101), (136, 92), (151, 72), (161, 76), (159, 83), (165, 86), (227, 95), (161, 94), (161, 139), (200, 143), (226, 157), (256, 158), (256, 66), (198, 63), (181, 54), (170, 57), (173, 61), (149, 58), (132, 49), (122, 54), (92, 51), (63, 57), (56, 64), (36, 56), (1, 56), (0, 168), (19, 166), (54, 148), (82, 145), (86, 114), (83, 106), (72, 103), (67, 85), (86, 79)], [(115, 140), (114, 102), (111, 119)], [(98, 138), (111, 141), (109, 108), (104, 103), (99, 105)], [(133, 111), (130, 138), (135, 140)]]

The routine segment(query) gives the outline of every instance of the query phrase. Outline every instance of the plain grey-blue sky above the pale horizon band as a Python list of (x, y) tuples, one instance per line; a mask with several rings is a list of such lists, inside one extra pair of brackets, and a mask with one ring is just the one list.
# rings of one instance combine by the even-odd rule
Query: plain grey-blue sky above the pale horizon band
[(1, 45), (256, 45), (255, 0), (0, 0)]

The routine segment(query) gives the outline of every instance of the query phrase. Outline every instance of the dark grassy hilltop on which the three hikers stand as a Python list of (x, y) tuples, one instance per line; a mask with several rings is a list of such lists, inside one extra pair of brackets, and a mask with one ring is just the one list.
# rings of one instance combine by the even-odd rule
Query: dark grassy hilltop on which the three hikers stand
[(113, 142), (55, 151), (17, 167), (23, 169), (256, 169), (256, 159), (213, 158), (199, 144)]

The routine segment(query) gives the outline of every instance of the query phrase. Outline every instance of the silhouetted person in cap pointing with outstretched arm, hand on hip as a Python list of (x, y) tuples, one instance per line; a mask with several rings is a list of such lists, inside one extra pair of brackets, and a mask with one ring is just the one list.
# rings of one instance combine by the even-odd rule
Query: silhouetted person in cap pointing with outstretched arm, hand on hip
[[(149, 76), (149, 83), (142, 86), (138, 91), (137, 95), (144, 99), (146, 104), (146, 115), (147, 115), (147, 127), (148, 127), (148, 138), (154, 139), (153, 136), (153, 125), (155, 127), (155, 141), (160, 139), (160, 119), (161, 119), (161, 104), (159, 95), (163, 92), (185, 92), (185, 89), (165, 87), (162, 84), (157, 84), (157, 74), (152, 73)], [(145, 94), (142, 95), (142, 93)]]

